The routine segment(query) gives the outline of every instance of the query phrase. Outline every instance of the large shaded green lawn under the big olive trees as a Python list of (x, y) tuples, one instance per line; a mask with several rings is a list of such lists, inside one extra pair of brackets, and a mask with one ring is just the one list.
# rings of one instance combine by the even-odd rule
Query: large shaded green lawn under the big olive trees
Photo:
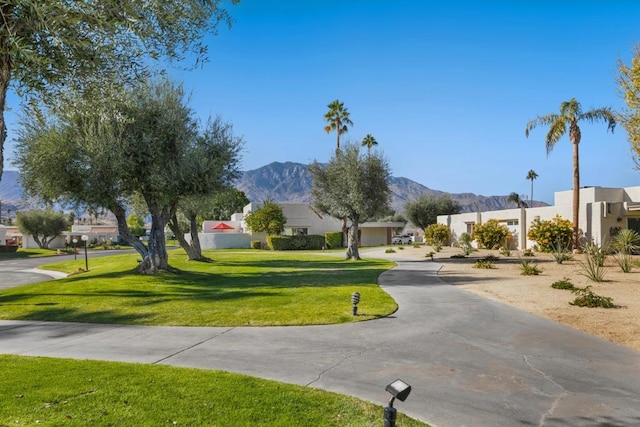
[[(135, 254), (89, 260), (87, 273), (0, 292), (0, 319), (136, 325), (334, 324), (397, 309), (376, 284), (394, 264), (310, 252), (209, 251), (212, 262), (170, 252), (175, 272), (142, 276)], [(84, 259), (43, 266), (74, 272)], [(351, 294), (359, 292), (358, 316)]]

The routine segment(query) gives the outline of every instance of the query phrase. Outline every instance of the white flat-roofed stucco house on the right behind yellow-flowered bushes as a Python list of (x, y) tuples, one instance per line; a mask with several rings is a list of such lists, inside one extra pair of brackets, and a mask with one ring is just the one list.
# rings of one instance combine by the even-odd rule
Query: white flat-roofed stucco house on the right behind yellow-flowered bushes
[[(526, 249), (535, 244), (527, 239), (531, 222), (536, 218), (551, 220), (556, 215), (572, 220), (572, 190), (556, 192), (553, 206), (441, 215), (438, 223), (451, 228), (455, 241), (460, 234), (471, 233), (474, 224), (497, 219), (513, 234), (514, 248)], [(584, 237), (597, 244), (607, 243), (611, 231), (616, 228), (629, 228), (640, 233), (640, 187), (581, 188), (579, 215), (578, 226)]]

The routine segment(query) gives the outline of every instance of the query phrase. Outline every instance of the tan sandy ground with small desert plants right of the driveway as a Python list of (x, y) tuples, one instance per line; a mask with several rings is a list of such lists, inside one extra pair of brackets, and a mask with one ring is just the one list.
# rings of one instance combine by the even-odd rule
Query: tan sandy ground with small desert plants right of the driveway
[[(426, 253), (431, 249), (409, 250)], [(608, 257), (605, 281), (595, 283), (580, 274), (580, 261), (584, 255), (573, 255), (573, 260), (557, 264), (551, 254), (535, 253), (526, 259), (542, 272), (537, 276), (522, 276), (518, 251), (511, 251), (509, 257), (498, 251), (480, 250), (467, 258), (451, 258), (460, 253), (460, 249), (447, 247), (434, 255), (434, 261), (443, 265), (438, 275), (445, 282), (640, 351), (639, 267), (634, 267), (631, 273), (623, 273), (615, 259)], [(499, 258), (493, 263), (496, 268), (472, 267), (477, 259), (489, 254)], [(634, 256), (634, 261), (640, 261), (640, 256)], [(552, 283), (564, 278), (570, 279), (576, 287), (591, 286), (595, 294), (611, 297), (616, 308), (570, 305), (575, 294), (551, 287)]]

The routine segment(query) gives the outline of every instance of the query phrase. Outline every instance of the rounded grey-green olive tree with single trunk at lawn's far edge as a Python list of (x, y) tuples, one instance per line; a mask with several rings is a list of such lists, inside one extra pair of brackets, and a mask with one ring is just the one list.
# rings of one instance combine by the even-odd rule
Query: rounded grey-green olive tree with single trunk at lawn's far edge
[(360, 259), (359, 224), (389, 210), (391, 173), (387, 160), (378, 153), (363, 155), (359, 144), (349, 142), (326, 166), (314, 161), (309, 173), (313, 181), (313, 206), (324, 214), (351, 222), (345, 259)]

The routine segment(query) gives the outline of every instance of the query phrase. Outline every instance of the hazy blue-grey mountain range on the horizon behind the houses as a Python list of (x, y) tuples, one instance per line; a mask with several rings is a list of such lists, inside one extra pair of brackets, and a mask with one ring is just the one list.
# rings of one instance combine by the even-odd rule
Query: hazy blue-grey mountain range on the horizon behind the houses
[[(311, 175), (308, 165), (294, 162), (274, 162), (258, 169), (242, 172), (236, 188), (244, 191), (249, 200), (262, 202), (271, 199), (279, 203), (308, 203), (311, 201)], [(4, 171), (0, 181), (0, 207), (6, 214), (26, 208), (22, 198), (22, 188), (18, 181), (18, 172)], [(402, 177), (391, 177), (391, 206), (402, 212), (404, 205), (423, 195), (438, 197), (443, 194), (460, 204), (462, 212), (477, 212), (512, 208), (508, 196), (480, 196), (473, 193), (446, 193), (425, 187), (415, 181)], [(536, 206), (546, 206), (544, 202), (535, 202)]]

